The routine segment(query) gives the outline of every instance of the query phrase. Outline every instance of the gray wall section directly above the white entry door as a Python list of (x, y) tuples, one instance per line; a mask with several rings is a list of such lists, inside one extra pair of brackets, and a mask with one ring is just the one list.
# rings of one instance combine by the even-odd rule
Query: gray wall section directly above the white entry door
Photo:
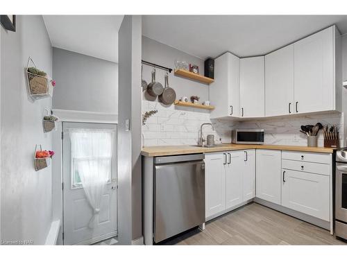
[(118, 64), (53, 48), (53, 108), (117, 114)]

